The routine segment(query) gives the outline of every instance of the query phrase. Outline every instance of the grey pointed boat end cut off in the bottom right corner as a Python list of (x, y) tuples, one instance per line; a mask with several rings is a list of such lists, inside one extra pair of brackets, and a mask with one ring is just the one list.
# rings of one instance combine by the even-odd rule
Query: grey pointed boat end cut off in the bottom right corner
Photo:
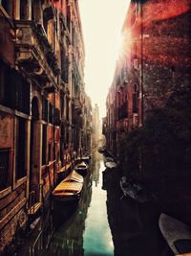
[(177, 254), (191, 255), (191, 227), (166, 214), (159, 217), (159, 229), (170, 246)]

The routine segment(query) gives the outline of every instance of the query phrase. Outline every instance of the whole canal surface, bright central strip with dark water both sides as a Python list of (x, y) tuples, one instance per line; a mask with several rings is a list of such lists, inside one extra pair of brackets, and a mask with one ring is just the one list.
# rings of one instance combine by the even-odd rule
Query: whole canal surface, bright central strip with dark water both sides
[(120, 170), (104, 170), (95, 151), (79, 202), (50, 207), (16, 255), (171, 256), (159, 232), (158, 205), (124, 198)]

